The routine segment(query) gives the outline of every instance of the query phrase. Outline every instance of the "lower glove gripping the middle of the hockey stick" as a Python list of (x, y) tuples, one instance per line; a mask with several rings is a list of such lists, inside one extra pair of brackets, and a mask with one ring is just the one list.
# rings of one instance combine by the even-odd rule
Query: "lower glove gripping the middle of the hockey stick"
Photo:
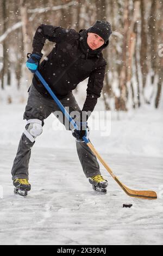
[(83, 141), (83, 136), (85, 136), (87, 139), (89, 139), (90, 129), (87, 126), (87, 122), (76, 122), (79, 130), (72, 130), (72, 135), (77, 139), (79, 142)]

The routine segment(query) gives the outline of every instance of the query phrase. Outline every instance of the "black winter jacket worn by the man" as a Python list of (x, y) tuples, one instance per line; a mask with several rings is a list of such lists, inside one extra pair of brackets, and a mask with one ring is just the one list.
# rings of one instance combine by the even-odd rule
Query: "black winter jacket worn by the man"
[[(106, 61), (102, 50), (108, 46), (109, 41), (93, 51), (87, 45), (86, 30), (78, 33), (74, 29), (42, 24), (34, 35), (33, 53), (41, 54), (46, 39), (56, 44), (40, 64), (40, 74), (59, 99), (66, 97), (77, 87), (78, 83), (89, 77), (87, 96), (82, 111), (92, 112), (103, 88)], [(35, 75), (33, 84), (43, 96), (51, 99)]]

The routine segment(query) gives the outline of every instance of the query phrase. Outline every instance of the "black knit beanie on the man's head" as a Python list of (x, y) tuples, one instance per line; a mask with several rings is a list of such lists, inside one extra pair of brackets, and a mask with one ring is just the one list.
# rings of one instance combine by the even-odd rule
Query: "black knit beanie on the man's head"
[(108, 21), (96, 21), (96, 23), (87, 31), (98, 34), (105, 42), (109, 40), (109, 36), (112, 33), (111, 25)]

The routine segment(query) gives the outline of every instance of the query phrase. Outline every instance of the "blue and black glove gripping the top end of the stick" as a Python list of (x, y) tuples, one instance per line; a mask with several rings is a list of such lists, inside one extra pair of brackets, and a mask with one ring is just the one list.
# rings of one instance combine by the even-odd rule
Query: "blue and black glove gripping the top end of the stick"
[(42, 56), (40, 56), (39, 54), (36, 54), (36, 53), (32, 53), (32, 54), (30, 54), (30, 57), (29, 57), (28, 56), (29, 54), (30, 53), (27, 54), (28, 60), (26, 62), (26, 66), (32, 73), (35, 73), (37, 68), (39, 67), (39, 62), (40, 62), (40, 59), (42, 58)]

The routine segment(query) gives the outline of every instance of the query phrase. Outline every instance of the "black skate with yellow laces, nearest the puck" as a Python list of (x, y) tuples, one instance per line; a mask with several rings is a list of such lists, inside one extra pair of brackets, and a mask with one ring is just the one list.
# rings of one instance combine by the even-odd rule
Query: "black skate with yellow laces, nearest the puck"
[(89, 178), (90, 184), (92, 184), (93, 190), (106, 194), (106, 187), (108, 186), (108, 181), (103, 178), (102, 175), (96, 175)]

